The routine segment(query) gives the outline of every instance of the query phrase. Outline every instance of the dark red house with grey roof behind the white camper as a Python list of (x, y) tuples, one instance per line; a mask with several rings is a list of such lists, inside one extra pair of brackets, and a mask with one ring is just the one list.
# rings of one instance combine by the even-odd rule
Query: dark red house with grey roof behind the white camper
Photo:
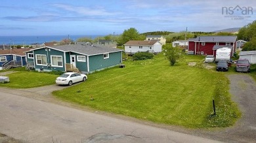
[(214, 55), (219, 48), (230, 48), (236, 52), (236, 36), (200, 36), (188, 39), (188, 54)]

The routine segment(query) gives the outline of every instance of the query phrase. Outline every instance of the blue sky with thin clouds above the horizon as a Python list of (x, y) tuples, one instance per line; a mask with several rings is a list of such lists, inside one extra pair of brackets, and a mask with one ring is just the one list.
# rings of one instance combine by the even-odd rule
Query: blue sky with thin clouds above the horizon
[[(179, 32), (186, 27), (188, 31), (215, 31), (253, 22), (254, 6), (255, 0), (1, 0), (0, 33), (1, 36), (108, 35), (121, 34), (130, 27), (139, 33)], [(230, 10), (224, 9), (223, 14), (223, 7)], [(249, 12), (242, 14), (242, 10)]]

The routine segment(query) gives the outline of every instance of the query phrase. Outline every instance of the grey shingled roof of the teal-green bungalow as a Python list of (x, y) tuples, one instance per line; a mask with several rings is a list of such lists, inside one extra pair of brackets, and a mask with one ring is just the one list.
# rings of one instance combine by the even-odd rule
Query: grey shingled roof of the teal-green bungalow
[(87, 56), (123, 51), (118, 48), (108, 48), (103, 46), (89, 46), (89, 45), (81, 45), (81, 44), (64, 44), (64, 45), (58, 45), (58, 46), (51, 46), (49, 48), (61, 50), (64, 52), (76, 52), (79, 54), (85, 54)]

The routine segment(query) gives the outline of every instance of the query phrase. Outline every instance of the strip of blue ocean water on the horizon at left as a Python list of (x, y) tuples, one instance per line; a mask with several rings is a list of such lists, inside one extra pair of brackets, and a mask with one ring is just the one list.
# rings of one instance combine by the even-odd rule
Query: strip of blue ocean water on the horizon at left
[(5, 44), (42, 44), (44, 42), (60, 41), (63, 39), (77, 40), (82, 37), (95, 39), (96, 37), (104, 37), (104, 35), (51, 35), (51, 36), (0, 36), (0, 45)]

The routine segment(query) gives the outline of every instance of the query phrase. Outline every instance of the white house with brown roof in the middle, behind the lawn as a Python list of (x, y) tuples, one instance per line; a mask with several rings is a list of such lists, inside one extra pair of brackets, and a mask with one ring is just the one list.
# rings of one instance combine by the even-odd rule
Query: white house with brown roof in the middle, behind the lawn
[(125, 52), (135, 54), (136, 52), (161, 52), (159, 40), (129, 40), (124, 44)]

